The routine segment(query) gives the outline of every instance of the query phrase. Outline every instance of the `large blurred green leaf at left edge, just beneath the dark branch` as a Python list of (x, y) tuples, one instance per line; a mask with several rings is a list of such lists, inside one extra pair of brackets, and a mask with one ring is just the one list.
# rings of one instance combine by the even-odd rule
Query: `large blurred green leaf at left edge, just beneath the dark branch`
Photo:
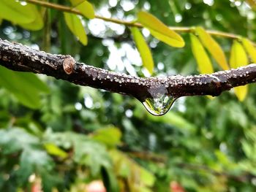
[(13, 72), (0, 66), (0, 85), (12, 93), (20, 103), (37, 109), (40, 107), (40, 93), (48, 93), (49, 89), (35, 74)]

